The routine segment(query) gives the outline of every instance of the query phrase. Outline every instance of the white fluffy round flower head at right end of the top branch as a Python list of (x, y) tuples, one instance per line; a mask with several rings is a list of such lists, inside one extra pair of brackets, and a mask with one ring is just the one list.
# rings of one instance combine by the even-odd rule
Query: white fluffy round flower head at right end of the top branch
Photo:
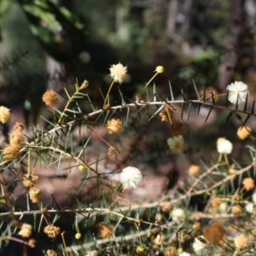
[(232, 104), (240, 104), (246, 100), (249, 94), (247, 84), (243, 82), (234, 82), (227, 86), (228, 100)]

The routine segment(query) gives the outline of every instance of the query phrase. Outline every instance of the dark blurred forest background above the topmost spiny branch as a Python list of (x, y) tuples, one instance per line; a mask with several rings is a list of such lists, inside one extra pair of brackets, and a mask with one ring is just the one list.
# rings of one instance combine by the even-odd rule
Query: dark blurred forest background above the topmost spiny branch
[(168, 80), (176, 95), (179, 87), (191, 95), (193, 81), (220, 92), (234, 79), (252, 86), (255, 13), (253, 0), (1, 0), (0, 103), (27, 123), (33, 110), (35, 122), (45, 89), (61, 93), (77, 78), (101, 104), (118, 61), (129, 67), (127, 97), (157, 65), (163, 94)]

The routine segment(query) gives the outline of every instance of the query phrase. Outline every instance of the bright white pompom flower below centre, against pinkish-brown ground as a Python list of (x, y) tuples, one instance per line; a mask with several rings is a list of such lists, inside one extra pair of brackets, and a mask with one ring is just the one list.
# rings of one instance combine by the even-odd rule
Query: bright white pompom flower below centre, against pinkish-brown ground
[(136, 188), (142, 178), (141, 172), (138, 168), (128, 166), (120, 173), (120, 180), (124, 188)]

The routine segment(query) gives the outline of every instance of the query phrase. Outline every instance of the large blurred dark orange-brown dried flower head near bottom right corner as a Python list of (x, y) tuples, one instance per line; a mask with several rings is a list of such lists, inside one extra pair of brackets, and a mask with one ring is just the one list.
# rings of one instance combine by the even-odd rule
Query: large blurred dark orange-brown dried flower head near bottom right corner
[(204, 228), (205, 239), (215, 245), (220, 245), (223, 242), (224, 236), (225, 229), (218, 222), (214, 222)]

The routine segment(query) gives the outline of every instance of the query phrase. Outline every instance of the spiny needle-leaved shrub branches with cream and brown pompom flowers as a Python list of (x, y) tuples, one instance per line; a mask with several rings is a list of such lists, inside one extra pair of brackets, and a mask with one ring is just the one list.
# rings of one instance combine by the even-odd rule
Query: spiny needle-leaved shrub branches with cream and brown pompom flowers
[[(74, 88), (66, 86), (64, 95), (47, 90), (42, 100), (51, 116), (44, 121), (45, 127), (51, 128), (33, 127), (24, 134), (24, 125), (17, 123), (10, 133), (9, 142), (1, 142), (2, 246), (10, 241), (21, 243), (23, 255), (27, 255), (30, 248), (40, 244), (33, 237), (44, 234), (45, 239), (49, 239), (49, 248), (42, 249), (42, 253), (47, 256), (255, 255), (255, 138), (252, 129), (246, 125), (255, 114), (254, 101), (251, 110), (247, 110), (250, 105), (248, 86), (236, 81), (227, 86), (224, 94), (218, 95), (204, 88), (200, 95), (194, 84), (197, 99), (187, 99), (180, 90), (182, 98), (176, 100), (170, 84), (170, 99), (163, 99), (156, 84), (151, 84), (164, 72), (159, 66), (145, 84), (148, 100), (138, 97), (131, 100), (123, 95), (120, 87), (127, 77), (127, 67), (118, 63), (109, 69), (113, 81), (106, 96), (102, 95), (102, 106), (93, 104), (86, 93), (90, 86), (88, 81), (81, 85), (77, 82)], [(111, 104), (111, 89), (115, 83), (120, 92), (120, 105)], [(60, 97), (66, 102), (63, 108), (57, 107)], [(218, 104), (221, 97), (225, 99), (225, 105)], [(172, 136), (166, 136), (163, 147), (169, 147), (173, 154), (180, 153), (186, 147), (186, 134), (189, 133), (182, 119), (186, 112), (189, 121), (192, 108), (197, 108), (198, 114), (201, 108), (209, 109), (205, 122), (212, 109), (227, 111), (227, 121), (235, 116), (241, 122), (238, 138), (252, 140), (246, 148), (250, 163), (230, 159), (234, 145), (221, 137), (216, 141), (218, 157), (212, 157), (210, 163), (191, 164), (182, 188), (155, 202), (129, 200), (129, 191), (142, 186), (145, 170), (138, 166), (124, 166), (111, 172), (100, 170), (100, 162), (115, 159), (122, 154), (122, 148), (101, 136), (97, 127), (104, 127), (110, 136), (122, 136), (122, 130), (132, 115), (145, 115), (148, 122), (157, 118), (163, 124), (170, 124)], [(10, 115), (11, 109), (0, 107), (2, 123), (8, 122)], [(90, 131), (108, 147), (103, 152), (104, 158), (86, 159), (90, 138), (84, 140), (81, 136), (81, 143), (77, 146), (74, 143), (76, 128), (79, 136), (83, 131), (86, 134)], [(61, 206), (55, 195), (51, 196), (51, 202), (45, 202), (47, 191), (40, 183), (40, 166), (45, 163), (47, 168), (56, 168), (56, 175), (63, 169), (67, 170), (67, 183), (75, 173), (80, 174), (77, 176), (79, 186), (72, 195), (76, 204), (67, 202)], [(97, 193), (92, 193), (90, 201), (84, 202), (79, 193), (92, 181), (97, 184)], [(16, 186), (24, 189), (26, 206), (20, 205), (19, 198), (13, 196)], [(196, 196), (204, 201), (201, 211), (191, 205), (191, 199)], [(70, 227), (62, 227), (61, 218), (67, 220), (70, 214)]]

